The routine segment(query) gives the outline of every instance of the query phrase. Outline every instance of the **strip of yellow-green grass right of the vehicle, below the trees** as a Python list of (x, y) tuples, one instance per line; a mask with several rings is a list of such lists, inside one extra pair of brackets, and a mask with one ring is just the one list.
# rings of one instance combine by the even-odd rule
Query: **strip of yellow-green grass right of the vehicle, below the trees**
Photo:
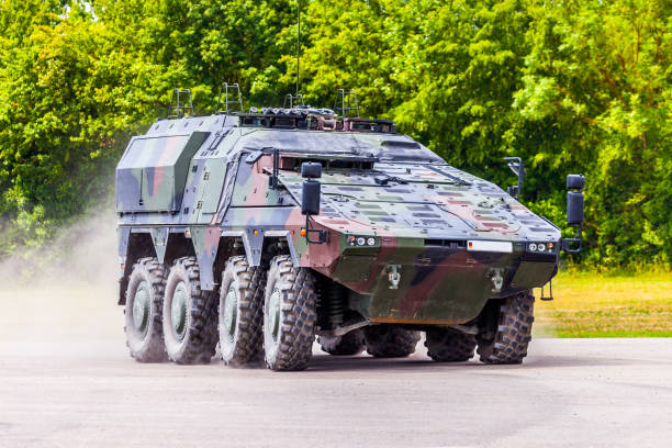
[(562, 272), (553, 280), (553, 296), (535, 304), (537, 336), (672, 337), (670, 272)]

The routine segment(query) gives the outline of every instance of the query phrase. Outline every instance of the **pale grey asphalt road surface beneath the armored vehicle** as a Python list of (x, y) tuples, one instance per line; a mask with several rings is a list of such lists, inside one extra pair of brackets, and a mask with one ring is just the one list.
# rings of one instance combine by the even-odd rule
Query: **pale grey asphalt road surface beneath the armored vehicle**
[[(7, 334), (5, 334), (7, 336)], [(537, 339), (523, 366), (331, 357), (139, 365), (123, 339), (0, 341), (0, 447), (661, 447), (672, 339)]]

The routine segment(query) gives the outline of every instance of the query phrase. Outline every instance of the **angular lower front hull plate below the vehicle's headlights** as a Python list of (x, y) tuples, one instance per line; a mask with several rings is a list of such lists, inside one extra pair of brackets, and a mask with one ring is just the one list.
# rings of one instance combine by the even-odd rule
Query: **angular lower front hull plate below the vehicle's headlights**
[(344, 251), (332, 277), (371, 298), (372, 322), (451, 325), (473, 320), (489, 299), (546, 284), (557, 270), (557, 251), (531, 254), (524, 243), (511, 253), (488, 253), (467, 244), (397, 242)]

